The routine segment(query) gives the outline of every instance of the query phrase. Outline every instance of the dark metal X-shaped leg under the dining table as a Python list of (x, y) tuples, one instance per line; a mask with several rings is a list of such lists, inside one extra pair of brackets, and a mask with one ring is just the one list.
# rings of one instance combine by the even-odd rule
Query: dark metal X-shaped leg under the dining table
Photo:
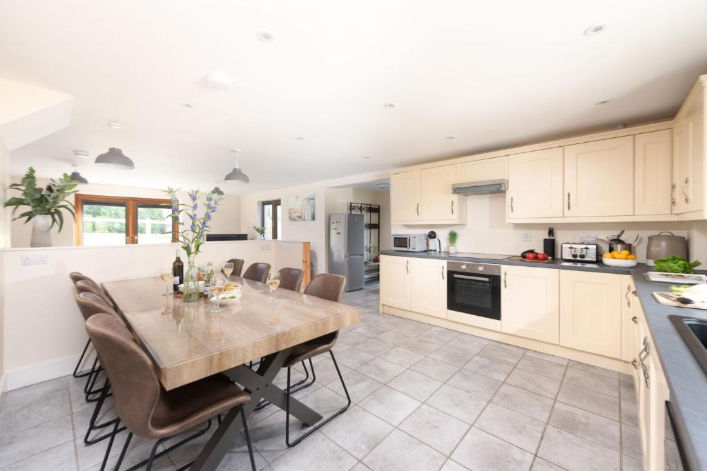
[[(291, 348), (269, 355), (260, 363), (258, 370), (253, 371), (245, 365), (223, 371), (233, 381), (243, 385), (243, 388), (250, 393), (250, 401), (243, 405), (243, 412), (247, 419), (255, 410), (262, 398), (269, 400), (276, 407), (285, 410), (285, 391), (275, 386), (272, 381), (289, 357)], [(322, 419), (322, 416), (315, 410), (310, 409), (299, 400), (290, 398), (290, 415), (297, 417), (308, 425), (313, 425)], [(199, 457), (190, 468), (191, 470), (214, 471), (221, 463), (223, 456), (228, 453), (235, 443), (238, 433), (243, 428), (238, 417), (238, 408), (233, 408), (223, 417), (221, 425), (214, 431), (211, 439), (206, 443), (204, 449), (199, 453)]]

